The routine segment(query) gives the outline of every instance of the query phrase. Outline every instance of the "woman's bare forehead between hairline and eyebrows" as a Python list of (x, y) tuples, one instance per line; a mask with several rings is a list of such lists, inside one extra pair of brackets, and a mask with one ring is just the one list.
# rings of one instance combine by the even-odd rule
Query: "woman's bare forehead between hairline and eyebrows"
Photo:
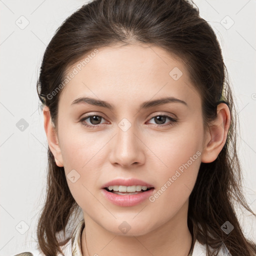
[(162, 95), (191, 101), (191, 93), (195, 93), (195, 101), (199, 98), (182, 61), (158, 46), (117, 44), (98, 48), (96, 54), (88, 52), (69, 67), (66, 75), (71, 72), (75, 75), (62, 92), (69, 104), (84, 95), (107, 97), (121, 104)]

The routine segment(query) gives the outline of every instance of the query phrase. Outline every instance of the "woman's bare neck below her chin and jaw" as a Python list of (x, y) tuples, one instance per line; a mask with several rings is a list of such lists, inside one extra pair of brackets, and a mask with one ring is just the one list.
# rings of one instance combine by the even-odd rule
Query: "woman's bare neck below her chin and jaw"
[(187, 227), (187, 209), (188, 201), (169, 221), (139, 236), (116, 235), (84, 214), (86, 240), (84, 228), (81, 235), (82, 255), (187, 256), (192, 243)]

